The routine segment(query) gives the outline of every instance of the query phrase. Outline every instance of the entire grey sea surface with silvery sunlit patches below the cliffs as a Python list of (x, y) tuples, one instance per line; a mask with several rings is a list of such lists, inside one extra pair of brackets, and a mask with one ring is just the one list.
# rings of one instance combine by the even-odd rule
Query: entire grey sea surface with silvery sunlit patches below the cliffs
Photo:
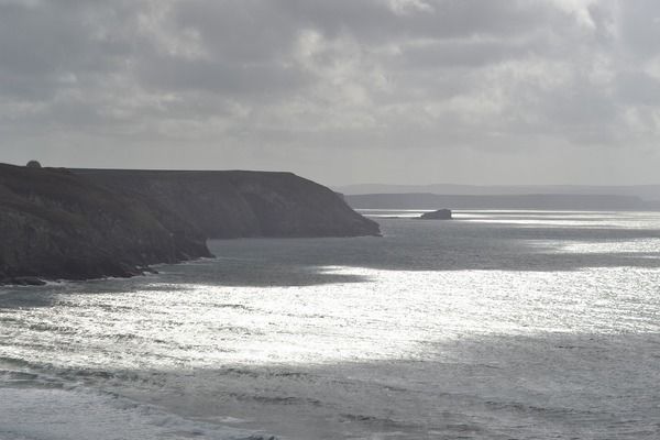
[(0, 439), (660, 438), (660, 213), (365, 213), (0, 288)]

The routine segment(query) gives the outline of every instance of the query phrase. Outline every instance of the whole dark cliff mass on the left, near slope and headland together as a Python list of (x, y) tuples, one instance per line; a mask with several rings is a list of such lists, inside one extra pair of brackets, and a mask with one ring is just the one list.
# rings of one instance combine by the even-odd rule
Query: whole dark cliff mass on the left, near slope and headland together
[(378, 233), (330, 189), (289, 173), (0, 164), (0, 284), (129, 276), (210, 256), (207, 238)]

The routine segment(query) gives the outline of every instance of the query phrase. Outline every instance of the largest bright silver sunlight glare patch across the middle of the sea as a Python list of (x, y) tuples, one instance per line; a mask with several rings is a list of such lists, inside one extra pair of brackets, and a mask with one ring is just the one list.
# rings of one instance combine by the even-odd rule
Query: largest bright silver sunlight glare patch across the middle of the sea
[[(221, 287), (150, 284), (63, 294), (21, 314), (4, 354), (58, 367), (177, 367), (432, 356), (468, 334), (658, 331), (660, 273), (399, 272), (326, 267), (365, 284)], [(651, 295), (651, 293), (653, 295)], [(15, 312), (2, 312), (7, 324)], [(19, 322), (16, 322), (19, 323)], [(50, 348), (50, 350), (45, 350)]]

